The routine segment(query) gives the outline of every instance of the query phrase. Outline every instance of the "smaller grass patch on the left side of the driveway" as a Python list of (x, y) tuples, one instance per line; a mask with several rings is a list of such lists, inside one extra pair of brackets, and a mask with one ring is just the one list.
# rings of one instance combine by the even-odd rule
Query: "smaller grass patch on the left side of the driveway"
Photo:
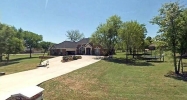
[(0, 62), (0, 72), (5, 72), (7, 75), (34, 69), (40, 62), (39, 56), (41, 56), (41, 54), (32, 54), (32, 58), (29, 58), (29, 54), (11, 55), (8, 64)]

